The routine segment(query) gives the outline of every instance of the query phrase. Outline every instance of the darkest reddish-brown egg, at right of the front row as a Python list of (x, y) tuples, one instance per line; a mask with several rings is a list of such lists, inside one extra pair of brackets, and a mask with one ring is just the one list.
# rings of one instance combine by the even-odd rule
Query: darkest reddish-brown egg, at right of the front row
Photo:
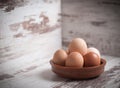
[(96, 53), (90, 52), (84, 55), (84, 67), (91, 67), (97, 65), (100, 65), (100, 58)]

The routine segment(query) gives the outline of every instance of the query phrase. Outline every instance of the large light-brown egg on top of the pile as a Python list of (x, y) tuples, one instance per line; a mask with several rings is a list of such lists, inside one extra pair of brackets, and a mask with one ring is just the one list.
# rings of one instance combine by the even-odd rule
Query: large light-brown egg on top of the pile
[(85, 55), (87, 53), (87, 44), (85, 40), (81, 38), (75, 38), (69, 44), (68, 49), (70, 52), (79, 52), (82, 55)]

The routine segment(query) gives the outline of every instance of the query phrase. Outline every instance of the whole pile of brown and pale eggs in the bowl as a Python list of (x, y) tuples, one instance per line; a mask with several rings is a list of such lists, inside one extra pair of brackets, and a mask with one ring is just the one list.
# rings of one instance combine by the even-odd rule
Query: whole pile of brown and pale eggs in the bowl
[(100, 65), (100, 52), (94, 47), (87, 47), (85, 40), (75, 38), (65, 51), (59, 49), (54, 53), (52, 61), (67, 67), (91, 67)]

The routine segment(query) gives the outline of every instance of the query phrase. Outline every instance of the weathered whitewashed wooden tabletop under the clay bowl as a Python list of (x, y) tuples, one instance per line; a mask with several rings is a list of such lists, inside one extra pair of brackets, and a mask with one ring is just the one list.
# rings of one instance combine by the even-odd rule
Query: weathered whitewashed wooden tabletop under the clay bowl
[(11, 75), (0, 75), (0, 88), (120, 88), (120, 57), (102, 57), (107, 60), (105, 72), (95, 79), (61, 78), (51, 71), (50, 58), (43, 58)]

